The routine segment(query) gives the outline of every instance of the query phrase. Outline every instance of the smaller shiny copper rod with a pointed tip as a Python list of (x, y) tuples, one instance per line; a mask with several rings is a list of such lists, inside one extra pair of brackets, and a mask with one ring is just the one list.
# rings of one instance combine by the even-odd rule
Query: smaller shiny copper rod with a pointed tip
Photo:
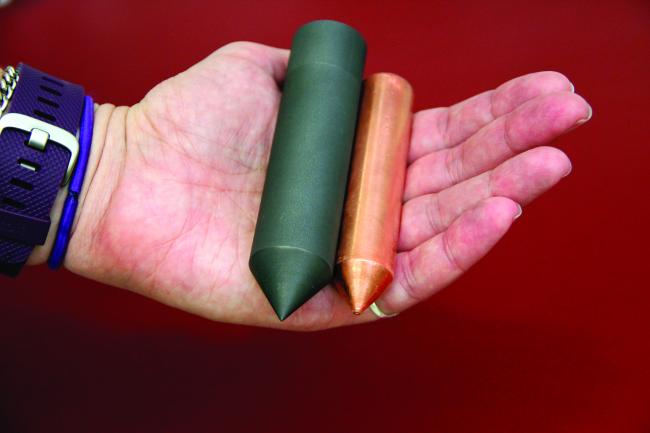
[(363, 93), (336, 272), (355, 314), (393, 280), (413, 105), (395, 74), (371, 75)]

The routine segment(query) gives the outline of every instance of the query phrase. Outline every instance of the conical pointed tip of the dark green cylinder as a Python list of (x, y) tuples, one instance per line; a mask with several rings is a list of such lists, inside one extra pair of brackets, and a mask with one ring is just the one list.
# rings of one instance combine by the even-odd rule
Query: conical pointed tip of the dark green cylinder
[(249, 266), (282, 321), (314, 296), (332, 276), (332, 270), (323, 259), (291, 247), (256, 251)]

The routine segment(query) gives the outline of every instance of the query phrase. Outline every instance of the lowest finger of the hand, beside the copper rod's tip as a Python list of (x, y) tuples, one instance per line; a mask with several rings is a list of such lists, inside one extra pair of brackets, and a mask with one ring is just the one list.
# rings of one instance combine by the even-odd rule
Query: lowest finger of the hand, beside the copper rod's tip
[(385, 313), (401, 312), (450, 284), (481, 259), (508, 231), (519, 206), (491, 197), (465, 212), (449, 228), (397, 255), (395, 280), (377, 301)]

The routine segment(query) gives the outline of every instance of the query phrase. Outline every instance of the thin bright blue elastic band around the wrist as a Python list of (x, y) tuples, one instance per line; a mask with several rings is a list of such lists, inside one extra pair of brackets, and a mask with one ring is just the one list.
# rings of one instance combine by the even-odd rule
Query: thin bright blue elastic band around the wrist
[(84, 99), (84, 110), (81, 117), (81, 126), (79, 127), (79, 158), (77, 167), (70, 180), (68, 188), (68, 197), (63, 205), (63, 213), (59, 221), (59, 228), (56, 232), (54, 247), (50, 253), (50, 259), (47, 265), (51, 269), (59, 269), (65, 259), (70, 242), (70, 231), (74, 223), (74, 217), (77, 214), (79, 204), (79, 194), (84, 184), (86, 168), (88, 167), (88, 158), (90, 157), (90, 145), (93, 140), (93, 123), (95, 117), (95, 104), (93, 98), (86, 96)]

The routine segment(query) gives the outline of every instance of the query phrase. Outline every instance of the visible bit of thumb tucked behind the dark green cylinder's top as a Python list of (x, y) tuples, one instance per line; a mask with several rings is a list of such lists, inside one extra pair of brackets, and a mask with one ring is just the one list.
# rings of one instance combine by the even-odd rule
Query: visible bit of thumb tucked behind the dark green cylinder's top
[(240, 41), (224, 45), (217, 53), (244, 58), (265, 70), (277, 83), (281, 83), (287, 73), (289, 50), (283, 48)]

